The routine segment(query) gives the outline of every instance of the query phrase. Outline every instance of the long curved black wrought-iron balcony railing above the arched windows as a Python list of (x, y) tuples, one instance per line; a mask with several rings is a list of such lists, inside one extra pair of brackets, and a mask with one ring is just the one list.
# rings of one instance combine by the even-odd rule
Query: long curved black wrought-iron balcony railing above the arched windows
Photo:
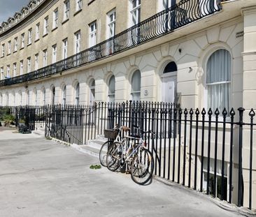
[(221, 10), (220, 0), (183, 0), (171, 8), (71, 57), (31, 73), (0, 81), (0, 87), (30, 82), (83, 66), (141, 45)]

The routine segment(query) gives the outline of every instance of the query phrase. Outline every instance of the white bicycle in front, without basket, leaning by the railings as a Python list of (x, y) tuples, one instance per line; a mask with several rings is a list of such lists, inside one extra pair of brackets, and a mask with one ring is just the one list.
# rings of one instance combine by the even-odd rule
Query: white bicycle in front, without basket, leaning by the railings
[[(138, 128), (137, 126), (134, 126)], [(138, 128), (141, 130), (140, 128)], [(141, 130), (141, 135), (152, 133)], [(154, 134), (154, 133), (152, 133)], [(131, 142), (129, 141), (131, 140)], [(136, 142), (137, 141), (137, 142)], [(116, 171), (120, 166), (131, 168), (131, 179), (136, 184), (146, 184), (154, 171), (154, 160), (151, 152), (146, 149), (145, 141), (138, 136), (125, 136), (120, 142), (113, 142), (106, 156), (108, 170)]]

